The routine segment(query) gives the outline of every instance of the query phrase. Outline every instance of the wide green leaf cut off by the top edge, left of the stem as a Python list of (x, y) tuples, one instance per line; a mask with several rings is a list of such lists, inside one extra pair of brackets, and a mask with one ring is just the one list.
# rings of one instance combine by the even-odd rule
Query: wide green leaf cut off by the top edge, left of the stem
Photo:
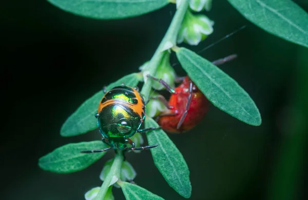
[(139, 16), (166, 6), (168, 0), (47, 0), (67, 12), (95, 19)]

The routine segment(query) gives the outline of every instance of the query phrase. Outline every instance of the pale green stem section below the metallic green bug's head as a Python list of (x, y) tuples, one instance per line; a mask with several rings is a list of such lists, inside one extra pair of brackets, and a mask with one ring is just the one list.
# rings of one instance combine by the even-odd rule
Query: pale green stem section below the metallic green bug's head
[(123, 162), (123, 154), (122, 154), (122, 151), (118, 150), (118, 153), (115, 154), (115, 157), (114, 157), (113, 163), (111, 165), (110, 171), (107, 174), (106, 179), (103, 182), (101, 189), (100, 189), (98, 195), (94, 198), (94, 200), (104, 200), (113, 176), (120, 179), (122, 162)]

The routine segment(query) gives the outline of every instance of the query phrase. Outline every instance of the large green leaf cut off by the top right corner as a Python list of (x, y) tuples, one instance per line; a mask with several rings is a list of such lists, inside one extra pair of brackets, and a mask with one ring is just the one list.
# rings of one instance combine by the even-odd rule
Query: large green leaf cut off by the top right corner
[(308, 14), (291, 0), (228, 0), (256, 26), (308, 47)]

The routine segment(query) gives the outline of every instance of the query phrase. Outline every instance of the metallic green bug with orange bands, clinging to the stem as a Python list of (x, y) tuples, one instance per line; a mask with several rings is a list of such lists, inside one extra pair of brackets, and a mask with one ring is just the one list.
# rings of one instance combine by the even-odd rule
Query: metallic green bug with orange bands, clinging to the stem
[[(136, 132), (144, 133), (161, 127), (150, 127), (140, 129), (145, 120), (145, 102), (138, 87), (121, 86), (113, 87), (106, 91), (99, 104), (98, 127), (103, 139), (102, 141), (110, 147), (98, 150), (81, 151), (83, 153), (102, 152), (112, 149), (119, 150), (144, 150), (157, 147), (158, 145), (149, 145), (135, 148), (134, 142), (130, 139)], [(130, 144), (131, 147), (127, 147)]]

